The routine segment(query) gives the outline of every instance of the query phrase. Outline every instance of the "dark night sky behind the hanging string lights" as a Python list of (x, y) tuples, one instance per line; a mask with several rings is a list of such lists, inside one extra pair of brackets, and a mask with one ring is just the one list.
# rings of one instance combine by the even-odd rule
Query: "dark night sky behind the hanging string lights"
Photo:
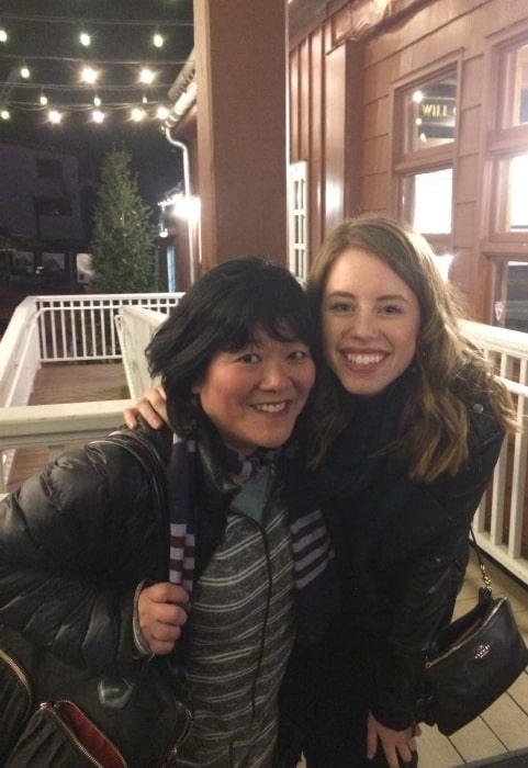
[[(0, 103), (10, 111), (0, 120), (0, 142), (77, 154), (81, 187), (97, 183), (104, 154), (124, 143), (139, 191), (154, 207), (181, 180), (181, 157), (159, 120), (132, 123), (130, 106), (146, 98), (153, 114), (157, 103), (167, 103), (192, 49), (192, 0), (2, 0), (0, 22), (9, 35), (0, 43)], [(89, 48), (78, 42), (81, 31), (92, 36)], [(155, 31), (164, 35), (161, 48), (151, 43)], [(79, 83), (82, 63), (101, 70), (99, 86)], [(21, 64), (31, 70), (25, 81), (14, 76)], [(137, 84), (144, 64), (157, 71), (153, 86)], [(38, 103), (43, 92), (46, 108)], [(90, 122), (94, 95), (102, 109), (109, 104), (101, 125)], [(52, 104), (67, 112), (60, 125), (46, 122)]]

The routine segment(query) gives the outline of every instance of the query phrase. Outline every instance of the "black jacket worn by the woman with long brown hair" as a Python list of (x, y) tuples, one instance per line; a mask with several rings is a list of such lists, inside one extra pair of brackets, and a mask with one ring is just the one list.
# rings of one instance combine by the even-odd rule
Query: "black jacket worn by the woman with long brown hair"
[(471, 520), (504, 439), (485, 402), (468, 407), (470, 458), (457, 476), (415, 483), (386, 459), (367, 487), (327, 502), (345, 609), (337, 631), (366, 635), (374, 659), (369, 707), (396, 730), (414, 720), (424, 653), (450, 620)]

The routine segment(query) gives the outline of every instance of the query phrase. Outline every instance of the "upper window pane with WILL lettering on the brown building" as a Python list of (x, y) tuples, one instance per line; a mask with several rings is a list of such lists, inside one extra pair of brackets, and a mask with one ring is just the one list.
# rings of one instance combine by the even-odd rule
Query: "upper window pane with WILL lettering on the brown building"
[(404, 153), (452, 142), (457, 115), (456, 75), (445, 75), (406, 91), (404, 114)]

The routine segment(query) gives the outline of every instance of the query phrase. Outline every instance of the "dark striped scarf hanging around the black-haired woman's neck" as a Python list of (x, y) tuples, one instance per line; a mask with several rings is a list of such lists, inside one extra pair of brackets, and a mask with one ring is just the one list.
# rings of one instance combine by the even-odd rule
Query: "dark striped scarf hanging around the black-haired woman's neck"
[(334, 550), (323, 513), (314, 492), (306, 485), (301, 455), (292, 445), (243, 456), (227, 449), (205, 419), (194, 439), (173, 436), (167, 466), (169, 579), (192, 595), (194, 580), (222, 539), (229, 505), (236, 501), (246, 483), (270, 468), (279, 478), (288, 508), (297, 640), (310, 644), (323, 635), (327, 622), (336, 614), (338, 587)]

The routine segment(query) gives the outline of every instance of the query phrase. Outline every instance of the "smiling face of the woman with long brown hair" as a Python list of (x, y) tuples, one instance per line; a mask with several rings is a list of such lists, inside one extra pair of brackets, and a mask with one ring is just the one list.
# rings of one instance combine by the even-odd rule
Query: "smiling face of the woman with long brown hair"
[(349, 248), (328, 272), (322, 300), (325, 359), (355, 395), (375, 395), (416, 352), (420, 323), (414, 292), (381, 259)]

